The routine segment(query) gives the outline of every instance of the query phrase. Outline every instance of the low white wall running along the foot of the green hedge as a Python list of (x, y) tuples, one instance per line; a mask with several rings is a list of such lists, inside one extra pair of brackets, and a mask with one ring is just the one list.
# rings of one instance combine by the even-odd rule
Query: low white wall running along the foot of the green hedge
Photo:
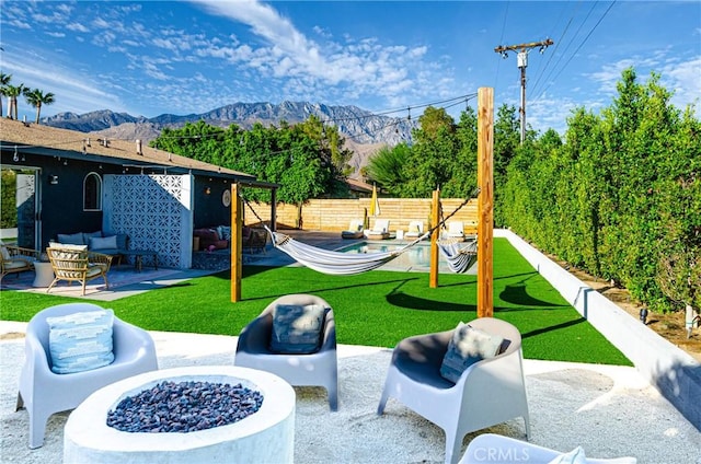
[(693, 426), (701, 430), (701, 364), (508, 230), (509, 243)]

